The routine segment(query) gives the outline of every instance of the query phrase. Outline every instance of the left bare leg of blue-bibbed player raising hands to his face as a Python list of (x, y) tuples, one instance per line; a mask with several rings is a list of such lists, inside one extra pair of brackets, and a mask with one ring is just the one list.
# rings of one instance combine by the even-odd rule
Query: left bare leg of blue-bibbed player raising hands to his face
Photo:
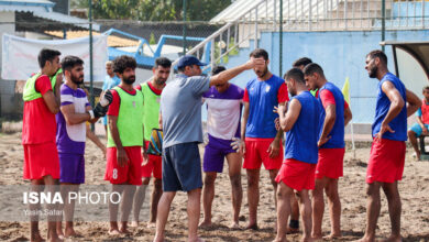
[(294, 196), (294, 190), (283, 182), (277, 188), (277, 235), (275, 242), (284, 242), (287, 232), (287, 219), (290, 215), (290, 197)]

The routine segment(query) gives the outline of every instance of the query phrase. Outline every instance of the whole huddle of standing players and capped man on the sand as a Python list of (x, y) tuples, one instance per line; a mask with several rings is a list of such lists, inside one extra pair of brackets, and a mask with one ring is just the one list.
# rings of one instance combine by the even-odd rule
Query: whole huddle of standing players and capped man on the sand
[[(109, 234), (129, 232), (131, 210), (131, 226), (139, 226), (145, 190), (153, 176), (148, 227), (156, 223), (154, 241), (165, 239), (165, 226), (177, 190), (188, 195), (188, 240), (202, 241), (197, 230), (212, 226), (215, 180), (227, 158), (232, 187), (231, 229), (240, 229), (241, 167), (248, 176), (245, 229), (258, 229), (258, 183), (264, 164), (277, 209), (275, 241), (286, 241), (287, 233), (298, 232), (299, 216), (301, 240), (322, 239), (323, 193), (331, 221), (331, 233), (326, 239), (341, 237), (338, 180), (343, 176), (344, 127), (352, 113), (341, 90), (327, 80), (320, 65), (300, 58), (282, 79), (268, 70), (268, 53), (256, 48), (248, 63), (231, 69), (219, 66), (212, 69), (211, 76), (202, 76), (201, 66), (206, 64), (186, 55), (178, 61), (178, 74), (166, 84), (172, 62), (161, 57), (153, 67), (154, 77), (135, 87), (135, 59), (120, 56), (107, 64), (111, 81), (119, 85), (106, 88), (92, 110), (87, 94), (79, 88), (84, 81), (84, 62), (65, 56), (59, 63), (59, 56), (57, 51), (42, 50), (41, 72), (26, 81), (23, 92), (23, 169), (24, 179), (31, 179), (33, 190), (41, 191), (43, 187), (38, 185), (46, 185), (47, 190), (55, 191), (53, 185), (58, 179), (65, 197), (68, 191), (79, 189), (79, 184), (85, 183), (86, 122), (107, 116), (105, 179), (112, 184), (112, 191), (122, 194), (120, 224), (119, 205), (109, 204)], [(381, 188), (389, 207), (392, 235), (388, 240), (400, 241), (397, 182), (404, 170), (407, 117), (417, 111), (421, 101), (388, 72), (383, 52), (369, 53), (365, 68), (380, 82), (366, 175), (366, 230), (361, 241), (375, 240)], [(253, 69), (256, 77), (245, 89), (228, 82), (248, 69)], [(208, 109), (204, 183), (198, 150), (204, 141), (202, 102)], [(153, 129), (164, 132), (162, 156), (147, 154)], [(204, 221), (199, 223), (201, 188)], [(31, 207), (37, 208), (37, 205)], [(51, 241), (76, 235), (74, 204), (66, 202), (62, 209), (65, 230), (62, 219), (48, 218)], [(32, 218), (31, 241), (41, 240), (37, 218)]]

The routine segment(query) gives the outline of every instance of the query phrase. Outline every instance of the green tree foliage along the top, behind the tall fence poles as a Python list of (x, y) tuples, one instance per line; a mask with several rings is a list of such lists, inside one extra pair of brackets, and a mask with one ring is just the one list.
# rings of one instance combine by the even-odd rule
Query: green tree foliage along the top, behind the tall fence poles
[[(188, 21), (208, 21), (231, 0), (187, 0)], [(88, 0), (73, 0), (72, 8), (88, 8)], [(92, 0), (94, 19), (182, 21), (183, 0)]]

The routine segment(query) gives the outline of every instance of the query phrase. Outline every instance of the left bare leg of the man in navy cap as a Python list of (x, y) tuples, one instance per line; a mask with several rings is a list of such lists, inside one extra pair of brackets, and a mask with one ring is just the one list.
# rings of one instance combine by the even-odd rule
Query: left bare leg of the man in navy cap
[(169, 207), (176, 196), (176, 191), (164, 191), (158, 202), (158, 211), (156, 215), (156, 233), (154, 242), (163, 242), (165, 238), (165, 224), (168, 220)]

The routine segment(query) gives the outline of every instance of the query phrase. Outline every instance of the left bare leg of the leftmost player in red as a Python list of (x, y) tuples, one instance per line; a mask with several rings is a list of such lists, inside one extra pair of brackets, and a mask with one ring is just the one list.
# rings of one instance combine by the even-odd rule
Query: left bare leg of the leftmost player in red
[[(32, 179), (31, 180), (31, 191), (41, 193), (44, 190), (44, 182), (43, 179)], [(40, 211), (41, 204), (30, 204), (29, 209), (31, 211)], [(43, 241), (41, 232), (38, 230), (38, 216), (37, 212), (32, 212), (34, 216), (30, 216), (30, 241), (38, 242)]]

